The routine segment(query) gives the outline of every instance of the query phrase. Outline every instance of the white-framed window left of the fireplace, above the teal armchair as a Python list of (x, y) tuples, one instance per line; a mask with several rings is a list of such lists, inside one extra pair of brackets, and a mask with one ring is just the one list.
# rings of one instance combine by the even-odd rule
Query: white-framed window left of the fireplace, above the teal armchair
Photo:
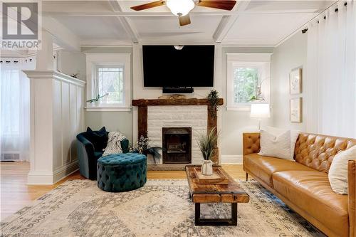
[[(87, 111), (130, 111), (130, 53), (86, 53)], [(100, 98), (95, 102), (96, 98)]]

